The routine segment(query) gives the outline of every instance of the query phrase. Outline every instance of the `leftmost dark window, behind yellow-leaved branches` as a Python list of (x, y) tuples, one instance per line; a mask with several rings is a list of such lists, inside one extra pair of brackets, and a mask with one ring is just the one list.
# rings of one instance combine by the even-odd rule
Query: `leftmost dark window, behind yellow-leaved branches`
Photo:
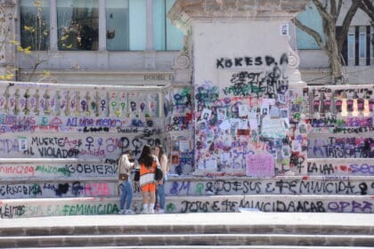
[(31, 50), (49, 48), (49, 1), (20, 0), (20, 45)]

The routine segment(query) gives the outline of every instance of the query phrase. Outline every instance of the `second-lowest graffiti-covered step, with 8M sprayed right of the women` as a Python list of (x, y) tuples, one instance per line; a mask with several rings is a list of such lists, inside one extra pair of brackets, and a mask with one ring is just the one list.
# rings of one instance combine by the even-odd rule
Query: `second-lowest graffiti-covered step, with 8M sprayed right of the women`
[[(374, 173), (374, 166), (373, 166)], [(4, 199), (118, 196), (118, 176), (65, 179), (12, 179), (0, 175)], [(305, 175), (255, 177), (171, 176), (169, 197), (209, 195), (374, 195), (374, 175)], [(133, 181), (134, 195), (142, 193)]]

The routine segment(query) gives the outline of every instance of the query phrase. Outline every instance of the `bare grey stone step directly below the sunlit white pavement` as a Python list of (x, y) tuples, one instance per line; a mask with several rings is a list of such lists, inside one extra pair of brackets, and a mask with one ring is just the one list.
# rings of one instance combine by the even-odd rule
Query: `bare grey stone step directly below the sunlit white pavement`
[[(142, 219), (144, 215), (138, 216)], [(165, 216), (164, 216), (165, 217)], [(118, 217), (122, 219), (122, 217)], [(126, 220), (124, 221), (126, 223)], [(373, 225), (374, 226), (374, 225)], [(372, 232), (372, 228), (364, 226), (353, 225), (295, 225), (295, 224), (280, 224), (280, 225), (248, 225), (248, 224), (230, 224), (230, 225), (117, 225), (117, 226), (75, 226), (75, 227), (27, 227), (20, 228), (6, 228), (0, 231), (1, 237), (34, 237), (34, 236), (80, 236), (80, 235), (159, 235), (160, 232), (167, 234), (299, 234), (299, 235), (368, 235)]]

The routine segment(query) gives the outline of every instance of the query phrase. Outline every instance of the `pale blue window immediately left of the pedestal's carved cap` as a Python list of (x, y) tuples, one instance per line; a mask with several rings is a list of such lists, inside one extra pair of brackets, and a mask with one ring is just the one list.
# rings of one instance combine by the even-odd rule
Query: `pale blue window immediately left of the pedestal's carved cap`
[(167, 18), (175, 0), (153, 1), (153, 46), (155, 50), (180, 50), (183, 32), (175, 28)]

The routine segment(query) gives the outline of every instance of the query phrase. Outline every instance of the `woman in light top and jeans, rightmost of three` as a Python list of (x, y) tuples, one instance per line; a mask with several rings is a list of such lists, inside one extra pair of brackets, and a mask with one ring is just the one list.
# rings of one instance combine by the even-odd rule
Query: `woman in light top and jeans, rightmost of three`
[(167, 155), (165, 155), (164, 149), (161, 146), (156, 146), (155, 155), (159, 158), (159, 165), (163, 173), (163, 179), (158, 181), (156, 188), (156, 205), (159, 203), (159, 213), (165, 213), (165, 184), (167, 183), (167, 173), (169, 168), (167, 165)]

